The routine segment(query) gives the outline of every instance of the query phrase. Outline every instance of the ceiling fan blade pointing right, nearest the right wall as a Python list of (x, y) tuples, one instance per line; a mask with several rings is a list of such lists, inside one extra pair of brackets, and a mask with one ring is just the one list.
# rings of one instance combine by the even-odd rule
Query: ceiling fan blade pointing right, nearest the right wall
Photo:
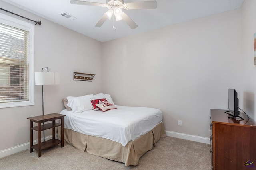
[(157, 2), (154, 1), (144, 1), (144, 2), (128, 2), (124, 3), (124, 9), (126, 10), (136, 10), (136, 9), (156, 9)]

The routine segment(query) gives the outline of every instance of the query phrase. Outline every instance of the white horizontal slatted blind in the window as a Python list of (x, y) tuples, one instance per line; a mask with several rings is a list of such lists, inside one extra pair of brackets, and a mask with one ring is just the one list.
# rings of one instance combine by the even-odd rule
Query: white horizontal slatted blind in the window
[(29, 31), (0, 23), (0, 103), (29, 100)]

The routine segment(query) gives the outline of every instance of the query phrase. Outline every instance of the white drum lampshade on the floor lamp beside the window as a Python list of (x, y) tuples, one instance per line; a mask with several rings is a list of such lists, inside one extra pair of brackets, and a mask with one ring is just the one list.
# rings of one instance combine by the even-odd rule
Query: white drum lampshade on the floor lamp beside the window
[(35, 72), (36, 85), (60, 84), (60, 74), (56, 72)]

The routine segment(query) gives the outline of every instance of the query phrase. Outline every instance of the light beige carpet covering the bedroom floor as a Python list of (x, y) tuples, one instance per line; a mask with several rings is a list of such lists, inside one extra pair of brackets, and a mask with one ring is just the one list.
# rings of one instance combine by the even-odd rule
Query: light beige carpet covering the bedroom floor
[(29, 149), (0, 159), (0, 170), (211, 170), (210, 145), (174, 137), (161, 138), (137, 166), (88, 154), (64, 143), (42, 150)]

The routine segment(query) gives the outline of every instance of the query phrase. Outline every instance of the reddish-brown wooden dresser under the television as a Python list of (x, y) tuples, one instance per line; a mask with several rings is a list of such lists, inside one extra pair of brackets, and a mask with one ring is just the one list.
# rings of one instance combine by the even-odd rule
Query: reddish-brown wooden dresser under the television
[(228, 119), (227, 110), (211, 109), (211, 153), (214, 170), (256, 170), (256, 123)]

